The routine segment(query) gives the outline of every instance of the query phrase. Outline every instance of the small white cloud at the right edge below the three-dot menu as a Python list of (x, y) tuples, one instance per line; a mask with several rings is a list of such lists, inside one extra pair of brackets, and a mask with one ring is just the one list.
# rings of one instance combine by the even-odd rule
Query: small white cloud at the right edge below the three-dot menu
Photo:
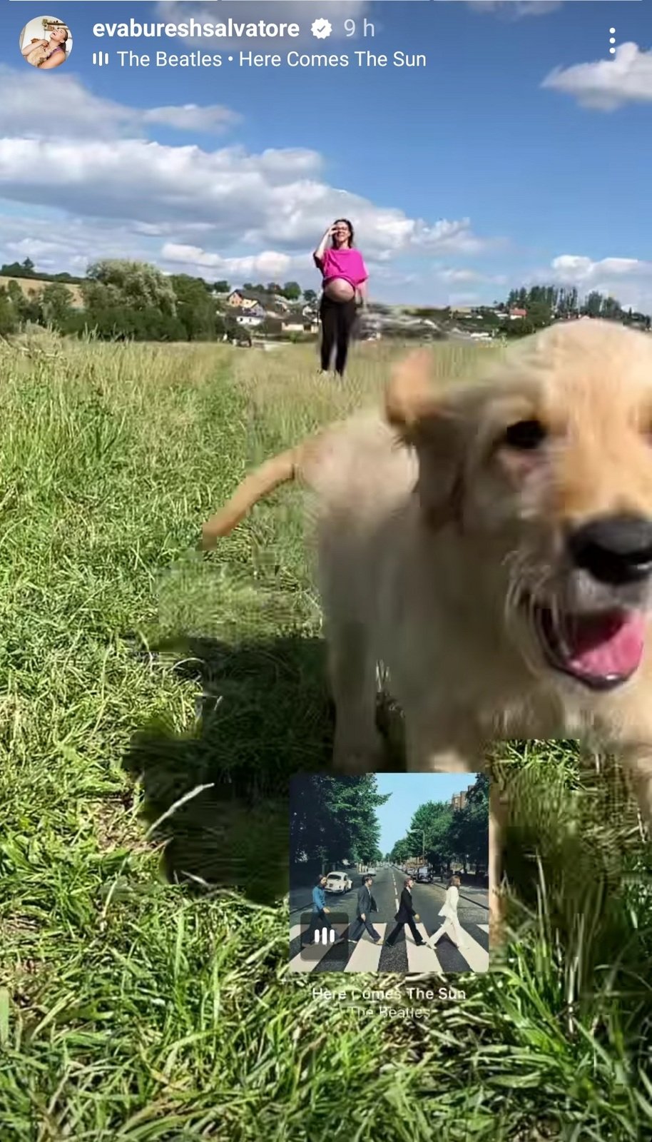
[(556, 67), (541, 87), (564, 91), (582, 107), (615, 111), (626, 103), (652, 103), (652, 51), (621, 43), (613, 59)]

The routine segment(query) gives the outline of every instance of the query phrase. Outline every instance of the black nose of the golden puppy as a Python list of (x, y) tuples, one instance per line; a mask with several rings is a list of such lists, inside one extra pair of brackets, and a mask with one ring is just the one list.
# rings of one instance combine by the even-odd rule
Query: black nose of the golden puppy
[(652, 520), (603, 515), (569, 536), (573, 563), (599, 582), (621, 586), (652, 573)]

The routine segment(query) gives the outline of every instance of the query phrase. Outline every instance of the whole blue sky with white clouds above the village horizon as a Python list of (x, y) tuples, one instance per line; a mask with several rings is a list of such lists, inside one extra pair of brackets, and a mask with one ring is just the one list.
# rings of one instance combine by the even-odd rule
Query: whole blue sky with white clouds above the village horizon
[[(319, 280), (327, 224), (356, 224), (379, 300), (491, 301), (531, 281), (652, 311), (652, 11), (635, 0), (494, 3), (267, 0), (54, 6), (73, 49), (39, 72), (6, 3), (0, 259), (83, 272), (135, 257), (167, 272)], [(56, 9), (56, 11), (55, 11)], [(316, 16), (333, 34), (309, 35)], [(296, 21), (296, 40), (95, 39), (96, 23)], [(375, 25), (344, 37), (345, 18)], [(617, 56), (609, 55), (609, 27)], [(274, 51), (279, 69), (228, 64)], [(222, 67), (120, 69), (118, 49), (223, 55)], [(369, 48), (426, 67), (360, 69)], [(108, 67), (94, 67), (94, 50)], [(348, 67), (289, 67), (288, 50)], [(190, 106), (188, 106), (190, 105)], [(185, 110), (184, 110), (185, 108)]]

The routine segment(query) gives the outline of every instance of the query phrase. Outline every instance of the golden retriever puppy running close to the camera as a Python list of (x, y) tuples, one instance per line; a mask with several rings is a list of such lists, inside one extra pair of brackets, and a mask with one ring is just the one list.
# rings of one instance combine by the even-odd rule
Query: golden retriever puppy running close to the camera
[[(556, 324), (440, 391), (428, 362), (404, 361), (383, 415), (253, 473), (204, 546), (285, 480), (314, 494), (338, 769), (376, 767), (383, 662), (409, 770), (578, 738), (618, 754), (650, 821), (652, 336)], [(492, 890), (499, 813), (492, 796)]]

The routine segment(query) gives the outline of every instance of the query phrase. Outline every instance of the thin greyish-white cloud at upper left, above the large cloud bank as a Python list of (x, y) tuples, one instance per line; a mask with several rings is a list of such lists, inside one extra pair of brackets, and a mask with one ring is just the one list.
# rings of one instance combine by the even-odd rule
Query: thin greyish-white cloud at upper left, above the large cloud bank
[[(32, 69), (16, 71), (0, 64), (0, 132), (24, 135), (26, 138), (41, 136), (43, 85), (39, 82), (38, 72)], [(66, 139), (143, 136), (151, 126), (217, 134), (241, 121), (239, 114), (220, 104), (206, 107), (195, 104), (128, 107), (94, 95), (75, 75), (70, 74), (57, 75), (57, 82), (48, 90), (47, 110), (48, 122), (57, 124), (56, 131), (50, 127), (49, 136), (56, 134)]]

